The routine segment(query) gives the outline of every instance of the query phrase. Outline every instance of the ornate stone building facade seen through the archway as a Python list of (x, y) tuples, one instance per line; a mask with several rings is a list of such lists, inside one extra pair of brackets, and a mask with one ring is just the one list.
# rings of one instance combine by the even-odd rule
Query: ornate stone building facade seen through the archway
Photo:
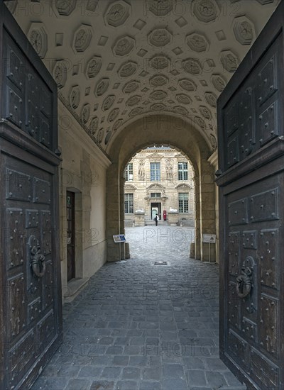
[[(148, 147), (124, 171), (126, 225), (160, 221), (195, 225), (194, 172), (190, 160), (170, 147)], [(136, 218), (135, 218), (136, 217)]]

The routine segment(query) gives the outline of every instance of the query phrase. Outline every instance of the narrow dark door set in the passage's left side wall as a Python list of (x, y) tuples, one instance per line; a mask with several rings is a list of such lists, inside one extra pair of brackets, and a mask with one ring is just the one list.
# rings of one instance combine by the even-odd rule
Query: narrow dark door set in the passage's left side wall
[(75, 278), (75, 193), (67, 191), (67, 282)]

